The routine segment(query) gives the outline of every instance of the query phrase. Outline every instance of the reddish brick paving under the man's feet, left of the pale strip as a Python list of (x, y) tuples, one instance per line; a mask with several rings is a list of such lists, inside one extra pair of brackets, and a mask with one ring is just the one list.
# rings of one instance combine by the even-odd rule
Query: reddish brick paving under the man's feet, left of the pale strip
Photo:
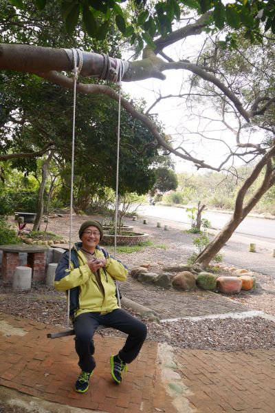
[(97, 367), (87, 393), (77, 394), (74, 383), (80, 370), (72, 337), (47, 339), (47, 332), (56, 329), (3, 313), (1, 321), (26, 334), (0, 332), (0, 385), (39, 399), (108, 413), (176, 412), (160, 379), (157, 343), (144, 344), (118, 387), (111, 378), (109, 356), (122, 347), (124, 339), (96, 335)]

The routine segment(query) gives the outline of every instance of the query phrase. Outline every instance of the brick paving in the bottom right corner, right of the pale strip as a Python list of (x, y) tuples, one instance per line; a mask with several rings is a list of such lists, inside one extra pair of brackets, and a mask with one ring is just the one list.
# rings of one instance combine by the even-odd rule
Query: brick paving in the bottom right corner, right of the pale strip
[(275, 412), (275, 348), (179, 350), (176, 361), (196, 413)]

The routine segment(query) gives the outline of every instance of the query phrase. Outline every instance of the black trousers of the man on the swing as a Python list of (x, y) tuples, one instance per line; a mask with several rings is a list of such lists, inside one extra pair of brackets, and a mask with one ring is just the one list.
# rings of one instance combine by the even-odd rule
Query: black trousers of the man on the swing
[(94, 360), (94, 333), (96, 328), (103, 324), (115, 330), (128, 334), (123, 348), (118, 352), (124, 363), (131, 363), (137, 357), (146, 339), (147, 328), (142, 321), (133, 317), (122, 308), (111, 313), (83, 313), (74, 319), (74, 331), (76, 333), (76, 352), (79, 357), (78, 366), (85, 372), (91, 372), (96, 367)]

